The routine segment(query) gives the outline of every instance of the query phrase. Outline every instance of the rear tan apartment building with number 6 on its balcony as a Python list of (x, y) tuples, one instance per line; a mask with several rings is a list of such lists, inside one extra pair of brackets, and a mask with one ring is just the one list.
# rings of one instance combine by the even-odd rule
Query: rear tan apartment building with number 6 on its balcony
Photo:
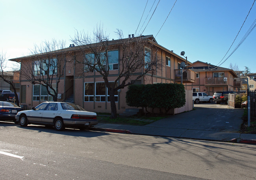
[(215, 91), (239, 91), (241, 81), (232, 69), (196, 61), (188, 68), (195, 71), (195, 83), (186, 83), (185, 87), (193, 92), (213, 95)]

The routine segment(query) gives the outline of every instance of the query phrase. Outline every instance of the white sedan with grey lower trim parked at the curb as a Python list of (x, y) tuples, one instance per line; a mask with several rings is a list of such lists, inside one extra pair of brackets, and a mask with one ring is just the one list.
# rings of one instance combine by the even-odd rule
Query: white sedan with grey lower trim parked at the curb
[(20, 126), (53, 125), (57, 131), (65, 127), (78, 127), (83, 130), (98, 124), (96, 113), (85, 111), (79, 105), (67, 102), (43, 102), (31, 110), (20, 111), (15, 118)]

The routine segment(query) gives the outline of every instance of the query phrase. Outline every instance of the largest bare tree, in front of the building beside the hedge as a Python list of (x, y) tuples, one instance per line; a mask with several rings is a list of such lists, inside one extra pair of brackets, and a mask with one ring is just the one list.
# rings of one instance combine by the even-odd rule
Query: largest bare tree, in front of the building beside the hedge
[[(157, 47), (149, 43), (147, 39), (141, 36), (124, 39), (120, 29), (117, 29), (115, 33), (119, 39), (109, 40), (109, 36), (99, 26), (93, 32), (93, 35), (76, 31), (72, 39), (72, 42), (80, 47), (84, 57), (83, 61), (76, 60), (76, 63), (83, 64), (83, 67), (85, 67), (83, 75), (86, 76), (88, 73), (96, 71), (104, 79), (111, 104), (111, 118), (117, 118), (115, 93), (147, 74), (153, 75), (160, 67), (156, 53)], [(145, 46), (148, 47), (147, 51)], [(113, 70), (111, 64), (113, 59), (108, 51), (113, 50), (113, 48), (118, 48), (120, 52), (117, 59), (118, 66), (116, 67), (119, 73), (114, 82), (110, 83), (109, 70)], [(131, 81), (131, 78), (133, 81)]]

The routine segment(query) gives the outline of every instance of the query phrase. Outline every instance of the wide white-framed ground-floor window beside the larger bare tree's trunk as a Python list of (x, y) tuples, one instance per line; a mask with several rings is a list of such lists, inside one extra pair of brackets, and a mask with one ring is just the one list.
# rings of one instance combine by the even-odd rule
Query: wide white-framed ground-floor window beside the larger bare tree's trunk
[[(109, 82), (109, 85), (112, 87), (114, 82)], [(117, 84), (115, 85), (117, 87)], [(106, 91), (107, 90), (107, 91)], [(109, 91), (106, 88), (106, 84), (104, 82), (96, 82), (96, 83), (85, 83), (85, 95), (84, 101), (85, 102), (110, 102), (109, 99)], [(106, 94), (107, 93), (107, 94)], [(94, 99), (95, 94), (95, 99)], [(115, 102), (118, 102), (118, 92), (115, 92)]]

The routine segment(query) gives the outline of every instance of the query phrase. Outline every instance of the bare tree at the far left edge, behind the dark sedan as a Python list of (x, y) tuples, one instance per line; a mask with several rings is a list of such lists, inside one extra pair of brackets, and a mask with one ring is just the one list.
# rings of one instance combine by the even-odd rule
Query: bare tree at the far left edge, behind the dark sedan
[(15, 88), (15, 85), (13, 84), (13, 82), (7, 78), (7, 75), (6, 75), (6, 72), (4, 71), (4, 69), (6, 68), (6, 63), (7, 63), (7, 60), (6, 60), (6, 53), (3, 53), (0, 54), (0, 78), (2, 78), (2, 80), (4, 82), (7, 82), (8, 84), (11, 85), (11, 87), (13, 88), (13, 91), (15, 93), (15, 102), (18, 106), (20, 106), (20, 102), (19, 102), (19, 96), (17, 94), (17, 91), (16, 91), (16, 88)]

